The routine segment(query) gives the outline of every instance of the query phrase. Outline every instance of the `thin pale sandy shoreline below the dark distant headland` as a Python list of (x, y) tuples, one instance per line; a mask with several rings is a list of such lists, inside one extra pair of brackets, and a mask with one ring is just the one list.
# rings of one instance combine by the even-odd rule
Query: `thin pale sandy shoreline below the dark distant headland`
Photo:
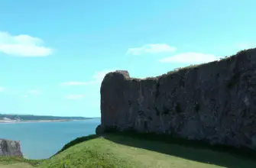
[[(90, 119), (90, 118), (88, 118)], [(82, 120), (77, 120), (77, 119), (60, 119), (60, 120), (0, 120), (0, 124), (15, 124), (15, 123), (31, 123), (31, 122), (63, 122), (63, 121), (84, 121), (88, 119), (82, 119)]]

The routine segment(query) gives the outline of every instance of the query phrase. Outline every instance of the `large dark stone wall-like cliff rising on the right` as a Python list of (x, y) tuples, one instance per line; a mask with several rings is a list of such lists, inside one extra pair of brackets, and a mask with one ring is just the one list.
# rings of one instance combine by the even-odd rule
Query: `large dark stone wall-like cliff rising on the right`
[(108, 73), (102, 128), (172, 134), (256, 150), (256, 49), (147, 79)]

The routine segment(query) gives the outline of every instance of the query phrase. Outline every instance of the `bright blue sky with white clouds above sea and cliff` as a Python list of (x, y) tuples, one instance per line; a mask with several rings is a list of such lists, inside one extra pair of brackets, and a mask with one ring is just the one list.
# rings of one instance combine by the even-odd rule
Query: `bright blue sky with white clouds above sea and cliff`
[(158, 76), (256, 47), (256, 1), (3, 0), (0, 112), (100, 116), (105, 73)]

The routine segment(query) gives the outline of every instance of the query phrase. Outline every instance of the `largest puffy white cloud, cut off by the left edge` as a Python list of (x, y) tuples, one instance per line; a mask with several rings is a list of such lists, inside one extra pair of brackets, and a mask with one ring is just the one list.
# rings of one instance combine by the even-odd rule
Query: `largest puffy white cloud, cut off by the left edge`
[(19, 57), (45, 57), (53, 53), (44, 41), (29, 35), (11, 35), (0, 31), (0, 52)]

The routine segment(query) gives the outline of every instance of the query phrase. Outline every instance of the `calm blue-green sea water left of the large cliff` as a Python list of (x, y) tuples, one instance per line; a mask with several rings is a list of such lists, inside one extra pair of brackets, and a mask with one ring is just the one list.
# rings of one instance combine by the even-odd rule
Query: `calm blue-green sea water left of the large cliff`
[(24, 157), (45, 159), (76, 137), (95, 134), (100, 118), (86, 121), (0, 124), (0, 138), (21, 141)]

